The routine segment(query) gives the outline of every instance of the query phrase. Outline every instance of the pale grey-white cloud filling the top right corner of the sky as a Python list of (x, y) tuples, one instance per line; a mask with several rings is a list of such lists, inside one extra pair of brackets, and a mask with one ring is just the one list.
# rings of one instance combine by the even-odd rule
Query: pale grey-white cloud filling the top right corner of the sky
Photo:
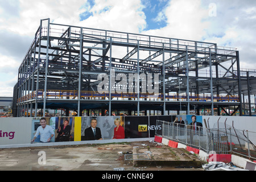
[(238, 48), (240, 67), (256, 69), (256, 1), (217, 1), (217, 16), (208, 17), (210, 27), (204, 40)]

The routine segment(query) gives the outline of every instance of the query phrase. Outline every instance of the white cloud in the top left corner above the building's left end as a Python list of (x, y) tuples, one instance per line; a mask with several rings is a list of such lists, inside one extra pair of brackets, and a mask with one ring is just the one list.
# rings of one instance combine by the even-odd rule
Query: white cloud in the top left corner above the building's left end
[(83, 11), (80, 7), (85, 2), (81, 0), (19, 0), (16, 11), (11, 11), (12, 14), (17, 12), (18, 15), (0, 24), (0, 28), (20, 35), (33, 36), (40, 25), (40, 19), (51, 18), (55, 23), (74, 24), (79, 22), (79, 14)]

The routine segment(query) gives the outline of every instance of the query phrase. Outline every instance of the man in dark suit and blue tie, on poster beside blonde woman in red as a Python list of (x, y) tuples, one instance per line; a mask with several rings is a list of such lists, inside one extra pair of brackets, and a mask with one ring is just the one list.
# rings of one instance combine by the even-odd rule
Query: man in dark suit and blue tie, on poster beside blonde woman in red
[(93, 118), (90, 121), (90, 127), (84, 130), (85, 140), (102, 140), (101, 129), (97, 126), (97, 119)]

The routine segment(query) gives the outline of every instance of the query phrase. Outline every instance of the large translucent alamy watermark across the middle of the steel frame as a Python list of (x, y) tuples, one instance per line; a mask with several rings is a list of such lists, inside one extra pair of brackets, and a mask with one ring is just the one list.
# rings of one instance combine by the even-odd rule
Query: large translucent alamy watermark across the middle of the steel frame
[[(138, 85), (138, 80), (141, 79)], [(159, 93), (159, 74), (154, 73), (129, 73), (128, 77), (125, 73), (115, 75), (115, 70), (112, 69), (110, 75), (101, 73), (98, 75), (98, 81), (101, 81), (97, 86), (98, 93), (108, 93), (109, 86), (112, 93)]]

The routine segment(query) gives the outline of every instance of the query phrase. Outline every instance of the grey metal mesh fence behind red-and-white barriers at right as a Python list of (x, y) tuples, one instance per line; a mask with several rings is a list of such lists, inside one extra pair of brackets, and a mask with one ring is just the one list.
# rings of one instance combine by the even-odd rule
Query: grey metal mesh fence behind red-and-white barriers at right
[(208, 129), (200, 126), (182, 125), (167, 121), (156, 121), (160, 125), (155, 135), (186, 146), (203, 150), (208, 154), (239, 154), (256, 159), (256, 147), (250, 138), (256, 133), (236, 129)]

